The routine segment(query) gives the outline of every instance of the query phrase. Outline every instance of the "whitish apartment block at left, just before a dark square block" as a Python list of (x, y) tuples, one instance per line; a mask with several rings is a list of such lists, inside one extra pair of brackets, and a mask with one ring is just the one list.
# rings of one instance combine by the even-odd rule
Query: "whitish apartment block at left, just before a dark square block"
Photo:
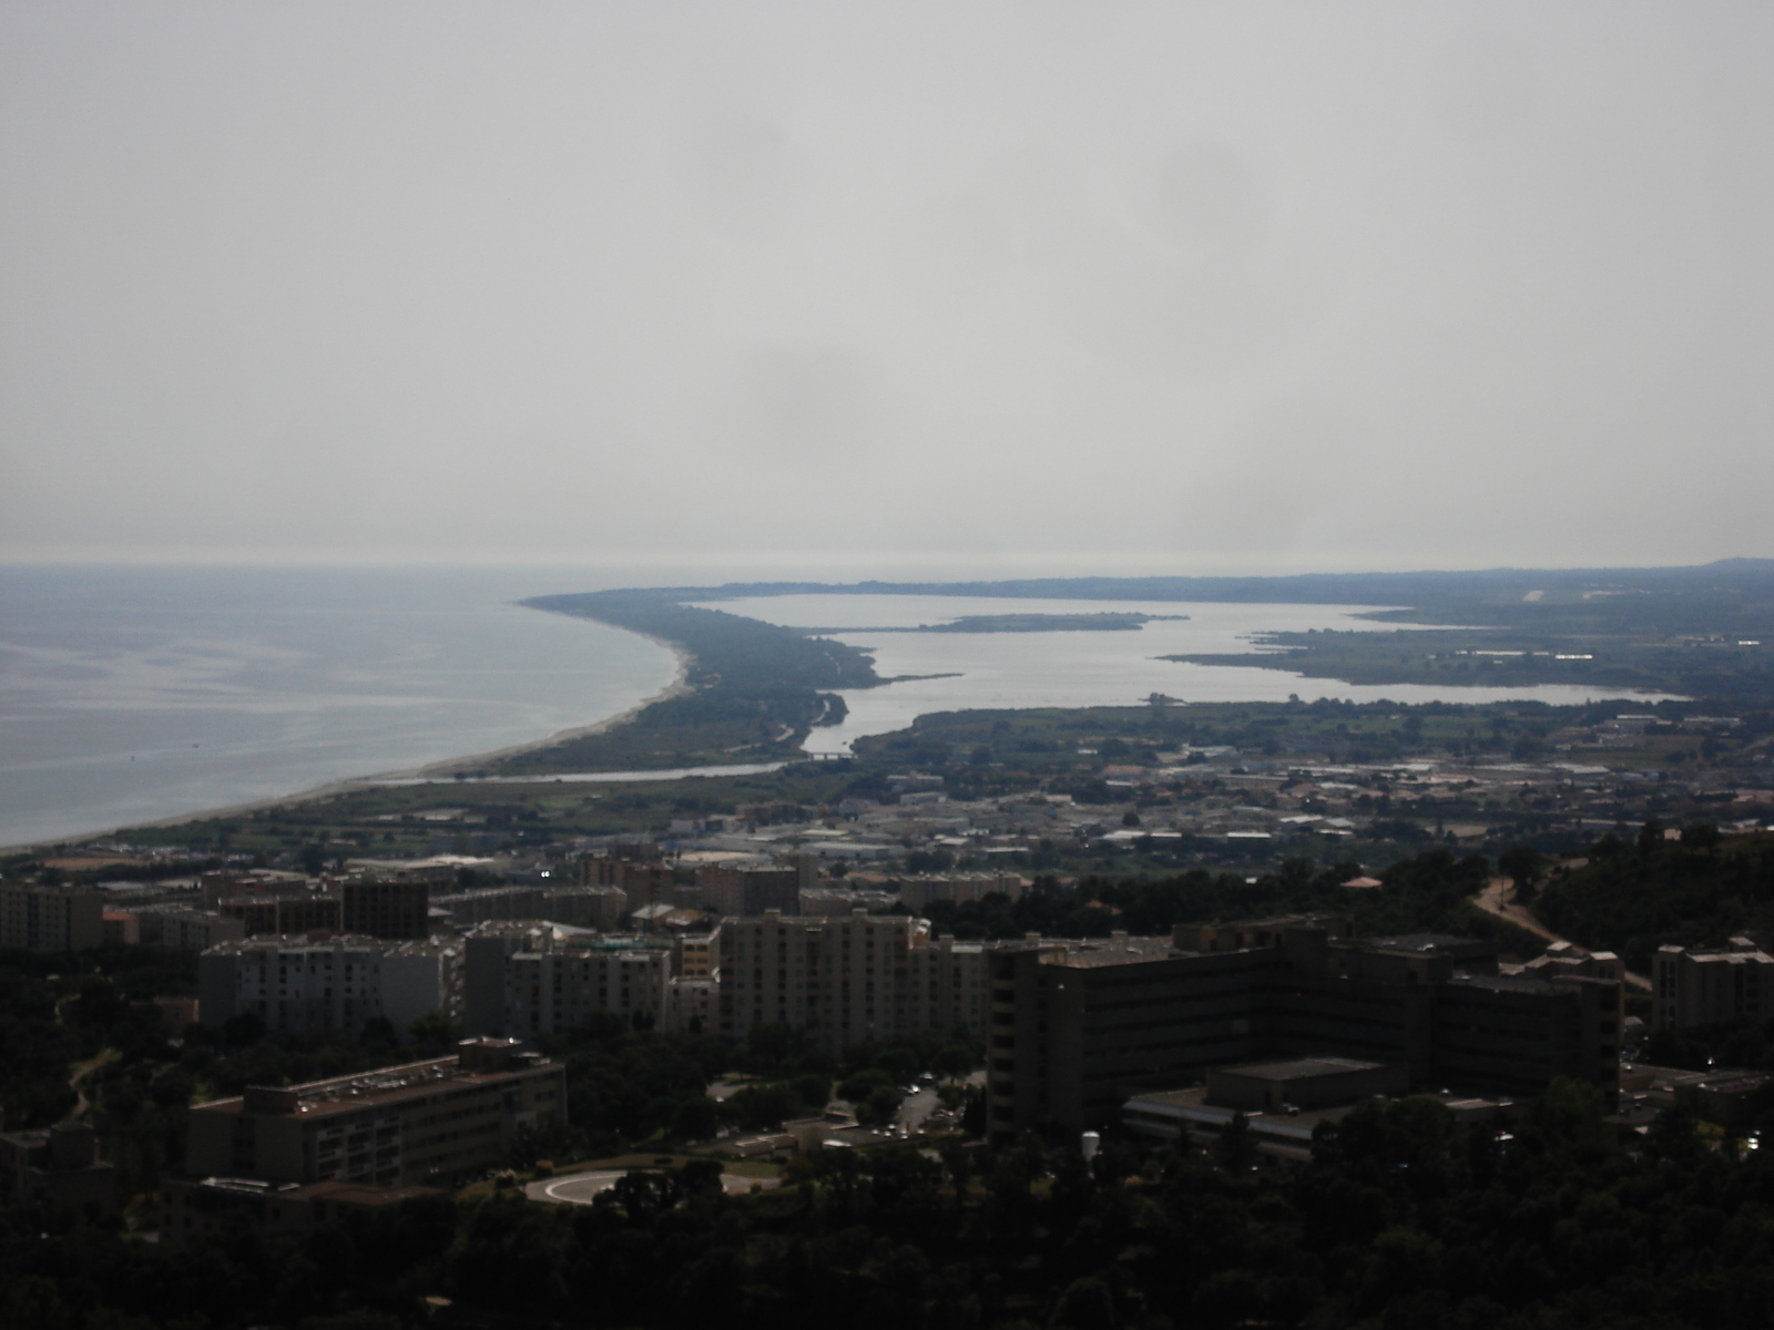
[(380, 938), (247, 938), (197, 958), (206, 1023), (254, 1014), (271, 1030), (360, 1030), (374, 1018), (406, 1030), (456, 1005), (459, 949)]

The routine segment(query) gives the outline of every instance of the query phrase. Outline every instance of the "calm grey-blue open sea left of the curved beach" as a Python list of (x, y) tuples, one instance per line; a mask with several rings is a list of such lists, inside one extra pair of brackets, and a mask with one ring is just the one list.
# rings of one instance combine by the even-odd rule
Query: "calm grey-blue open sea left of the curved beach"
[(561, 569), (0, 569), (0, 846), (589, 725), (663, 647), (513, 605)]

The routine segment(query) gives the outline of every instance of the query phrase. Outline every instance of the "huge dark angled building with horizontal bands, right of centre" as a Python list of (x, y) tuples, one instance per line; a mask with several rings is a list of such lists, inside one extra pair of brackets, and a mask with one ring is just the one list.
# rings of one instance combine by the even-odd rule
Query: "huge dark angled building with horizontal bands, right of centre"
[(1350, 936), (1339, 919), (1180, 927), (1167, 938), (1029, 942), (990, 958), (995, 1135), (1111, 1121), (1208, 1068), (1348, 1057), (1412, 1084), (1535, 1094), (1618, 1087), (1618, 979), (1501, 975), (1469, 938)]

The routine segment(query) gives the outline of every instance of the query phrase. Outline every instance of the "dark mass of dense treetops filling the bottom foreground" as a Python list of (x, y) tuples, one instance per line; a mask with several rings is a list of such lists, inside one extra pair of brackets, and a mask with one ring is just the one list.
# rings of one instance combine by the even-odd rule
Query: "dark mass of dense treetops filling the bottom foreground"
[(1111, 1138), (1093, 1163), (1034, 1140), (823, 1151), (742, 1197), (703, 1162), (584, 1208), (507, 1190), (165, 1248), (14, 1211), (0, 1326), (371, 1330), (426, 1319), (426, 1296), (459, 1326), (1769, 1323), (1774, 1160), (1708, 1147), (1680, 1107), (1632, 1140), (1559, 1082), (1506, 1133), (1364, 1105), (1302, 1167), (1254, 1167), (1236, 1133), (1212, 1154)]

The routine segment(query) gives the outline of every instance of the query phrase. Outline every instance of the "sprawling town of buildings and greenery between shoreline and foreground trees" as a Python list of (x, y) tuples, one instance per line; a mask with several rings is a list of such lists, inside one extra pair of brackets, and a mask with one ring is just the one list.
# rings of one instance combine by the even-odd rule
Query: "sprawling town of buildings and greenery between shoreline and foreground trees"
[[(681, 761), (681, 731), (628, 727), (598, 741)], [(1306, 1206), (1401, 1133), (1517, 1170), (1529, 1204), (1549, 1114), (1611, 1167), (1751, 1177), (1774, 1128), (1770, 759), (1774, 715), (1721, 699), (1151, 697), (921, 716), (743, 771), (358, 782), (37, 846), (0, 862), (0, 1185), (153, 1259), (277, 1261), (429, 1217), (477, 1256), (413, 1273), (419, 1302), (341, 1266), (310, 1318), (380, 1298), (390, 1326), (493, 1326), (571, 1312), (491, 1261), (514, 1232), (557, 1270), (610, 1270), (660, 1224), (720, 1247), (720, 1215), (805, 1243), (862, 1185), (908, 1186), (997, 1270), (992, 1225), (1080, 1222), (1066, 1188), (1093, 1215), (1208, 1177)], [(1089, 1270), (1006, 1271), (995, 1316), (1153, 1279)], [(649, 1284), (612, 1279), (600, 1305), (646, 1319)]]

